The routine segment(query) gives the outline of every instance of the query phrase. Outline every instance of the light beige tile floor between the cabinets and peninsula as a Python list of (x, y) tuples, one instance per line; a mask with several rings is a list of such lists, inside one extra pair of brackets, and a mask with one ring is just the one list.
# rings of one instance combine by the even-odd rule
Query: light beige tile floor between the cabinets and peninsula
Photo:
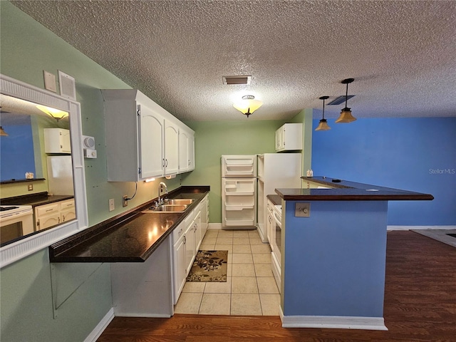
[(228, 251), (227, 282), (187, 282), (176, 314), (279, 316), (271, 250), (256, 229), (209, 229), (199, 249)]

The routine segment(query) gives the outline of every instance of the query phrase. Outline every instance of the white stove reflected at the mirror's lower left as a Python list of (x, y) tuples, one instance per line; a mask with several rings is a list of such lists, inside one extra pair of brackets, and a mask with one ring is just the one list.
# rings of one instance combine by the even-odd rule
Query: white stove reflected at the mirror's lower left
[(31, 205), (2, 205), (0, 207), (1, 244), (33, 233)]

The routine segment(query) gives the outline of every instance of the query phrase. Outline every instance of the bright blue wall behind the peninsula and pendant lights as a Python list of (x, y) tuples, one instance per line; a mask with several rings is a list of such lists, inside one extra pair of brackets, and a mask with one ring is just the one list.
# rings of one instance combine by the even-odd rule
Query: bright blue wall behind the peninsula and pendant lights
[[(314, 130), (318, 120), (314, 120)], [(456, 118), (358, 118), (317, 131), (314, 175), (425, 192), (432, 201), (392, 201), (388, 224), (456, 224)]]

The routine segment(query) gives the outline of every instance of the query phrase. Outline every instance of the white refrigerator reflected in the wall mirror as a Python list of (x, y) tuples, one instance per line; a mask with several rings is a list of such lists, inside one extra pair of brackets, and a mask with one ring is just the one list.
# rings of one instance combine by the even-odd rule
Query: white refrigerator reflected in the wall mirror
[(71, 155), (46, 157), (48, 192), (52, 195), (74, 195), (73, 163)]

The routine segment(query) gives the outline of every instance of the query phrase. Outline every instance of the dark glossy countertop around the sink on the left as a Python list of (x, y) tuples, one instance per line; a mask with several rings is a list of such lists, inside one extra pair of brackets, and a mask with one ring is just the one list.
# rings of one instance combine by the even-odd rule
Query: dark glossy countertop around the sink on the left
[(196, 199), (185, 212), (143, 212), (152, 200), (51, 245), (49, 259), (51, 262), (143, 262), (207, 192), (209, 187), (180, 187), (167, 197)]

